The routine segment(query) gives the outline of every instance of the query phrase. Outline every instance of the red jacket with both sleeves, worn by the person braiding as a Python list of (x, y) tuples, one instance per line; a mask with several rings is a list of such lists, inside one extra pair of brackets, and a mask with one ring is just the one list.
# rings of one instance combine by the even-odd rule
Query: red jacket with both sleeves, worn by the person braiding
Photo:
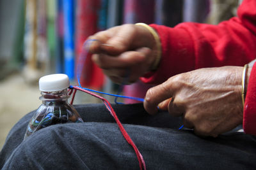
[[(256, 0), (244, 0), (237, 16), (218, 25), (193, 22), (174, 28), (150, 25), (161, 39), (162, 58), (159, 69), (146, 74), (141, 80), (162, 83), (175, 74), (194, 69), (244, 66), (255, 59)], [(248, 83), (243, 127), (246, 133), (256, 135), (256, 65)]]

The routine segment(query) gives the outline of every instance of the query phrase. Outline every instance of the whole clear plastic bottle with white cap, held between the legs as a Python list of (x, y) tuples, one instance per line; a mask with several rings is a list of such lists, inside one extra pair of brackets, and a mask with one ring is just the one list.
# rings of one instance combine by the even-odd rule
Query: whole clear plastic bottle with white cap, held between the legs
[(44, 127), (68, 122), (83, 122), (76, 109), (68, 103), (69, 80), (66, 74), (50, 74), (39, 80), (41, 106), (29, 121), (24, 139)]

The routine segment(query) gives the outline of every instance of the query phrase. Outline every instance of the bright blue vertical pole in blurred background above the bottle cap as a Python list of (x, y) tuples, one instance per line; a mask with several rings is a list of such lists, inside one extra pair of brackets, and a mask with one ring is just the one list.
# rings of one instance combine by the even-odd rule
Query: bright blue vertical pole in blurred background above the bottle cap
[(63, 0), (65, 74), (74, 79), (74, 0)]

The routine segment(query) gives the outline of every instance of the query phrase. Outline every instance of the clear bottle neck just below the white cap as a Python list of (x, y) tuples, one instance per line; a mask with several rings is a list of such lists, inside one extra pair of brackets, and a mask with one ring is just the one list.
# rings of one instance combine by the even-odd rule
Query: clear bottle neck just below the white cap
[(66, 103), (68, 99), (68, 90), (60, 90), (54, 92), (41, 92), (39, 99), (42, 101), (43, 104), (49, 103)]

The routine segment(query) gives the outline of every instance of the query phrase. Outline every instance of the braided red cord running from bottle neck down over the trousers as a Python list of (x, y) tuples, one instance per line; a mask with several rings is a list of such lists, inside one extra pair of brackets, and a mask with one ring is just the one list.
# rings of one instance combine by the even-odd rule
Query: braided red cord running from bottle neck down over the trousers
[[(132, 148), (134, 149), (136, 156), (138, 158), (139, 164), (140, 164), (140, 169), (146, 169), (146, 164), (145, 161), (143, 159), (143, 156), (141, 155), (140, 151), (138, 150), (137, 146), (134, 144), (134, 142), (132, 141), (131, 137), (129, 136), (129, 134), (125, 131), (123, 125), (121, 124), (120, 120), (118, 119), (118, 117), (116, 116), (115, 111), (113, 110), (111, 104), (109, 103), (109, 101), (107, 99), (105, 99), (104, 97), (98, 96), (97, 94), (93, 94), (92, 92), (82, 89), (81, 87), (77, 87), (77, 86), (70, 86), (70, 89), (75, 89), (75, 90), (81, 90), (82, 92), (86, 92), (87, 94), (90, 94), (94, 97), (97, 97), (99, 99), (102, 99), (103, 103), (105, 104), (106, 108), (109, 110), (109, 112), (111, 113), (111, 115), (115, 118), (116, 120), (116, 124), (118, 125), (120, 131), (122, 132), (125, 140), (127, 141), (127, 143), (129, 143)], [(76, 91), (75, 91), (76, 92)], [(73, 97), (74, 98), (74, 95)]]

